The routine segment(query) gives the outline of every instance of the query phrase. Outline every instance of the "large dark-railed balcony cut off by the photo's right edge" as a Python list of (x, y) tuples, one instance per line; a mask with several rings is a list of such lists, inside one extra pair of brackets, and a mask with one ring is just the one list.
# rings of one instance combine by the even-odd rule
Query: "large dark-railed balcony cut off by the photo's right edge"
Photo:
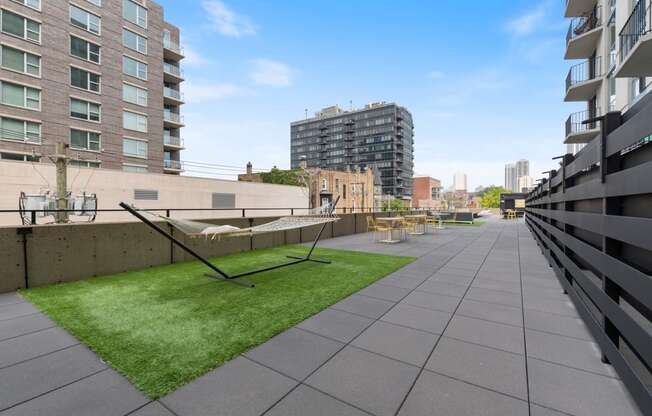
[[(647, 3), (647, 5), (646, 5)], [(639, 0), (620, 31), (619, 78), (652, 76), (652, 4)]]

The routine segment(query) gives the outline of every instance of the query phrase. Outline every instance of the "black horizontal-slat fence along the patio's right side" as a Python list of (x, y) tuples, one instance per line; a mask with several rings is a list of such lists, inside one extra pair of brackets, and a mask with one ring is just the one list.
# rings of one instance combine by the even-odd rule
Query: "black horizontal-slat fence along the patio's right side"
[(603, 358), (652, 414), (652, 95), (611, 112), (526, 200), (526, 223)]

